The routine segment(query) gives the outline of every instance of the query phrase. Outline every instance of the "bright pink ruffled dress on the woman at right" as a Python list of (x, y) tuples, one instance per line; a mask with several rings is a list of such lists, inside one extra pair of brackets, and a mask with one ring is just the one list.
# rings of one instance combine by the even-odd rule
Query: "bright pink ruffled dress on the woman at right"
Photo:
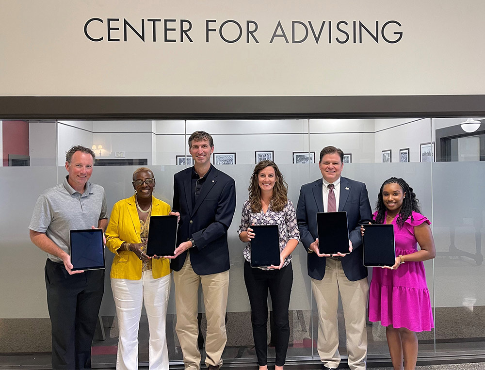
[[(374, 213), (374, 219), (377, 212)], [(396, 256), (416, 252), (418, 241), (414, 236), (414, 226), (430, 221), (422, 214), (412, 213), (399, 228), (394, 218), (394, 238)], [(384, 218), (385, 220), (386, 218)], [(423, 262), (407, 262), (397, 270), (374, 267), (369, 290), (369, 320), (381, 322), (383, 326), (407, 328), (413, 332), (430, 331), (435, 325), (431, 301), (426, 284)]]

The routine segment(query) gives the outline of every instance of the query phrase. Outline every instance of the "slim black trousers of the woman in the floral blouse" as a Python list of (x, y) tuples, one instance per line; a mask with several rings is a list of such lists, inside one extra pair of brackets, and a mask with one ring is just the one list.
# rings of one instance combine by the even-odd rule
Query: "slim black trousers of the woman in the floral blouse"
[(291, 263), (281, 270), (264, 271), (251, 267), (244, 262), (244, 282), (246, 284), (249, 303), (251, 305), (251, 324), (253, 326), (254, 347), (259, 366), (267, 364), (268, 334), (268, 290), (273, 305), (275, 321), (276, 366), (283, 366), (290, 340), (290, 322), (288, 308), (290, 306), (291, 286), (293, 285), (293, 268)]

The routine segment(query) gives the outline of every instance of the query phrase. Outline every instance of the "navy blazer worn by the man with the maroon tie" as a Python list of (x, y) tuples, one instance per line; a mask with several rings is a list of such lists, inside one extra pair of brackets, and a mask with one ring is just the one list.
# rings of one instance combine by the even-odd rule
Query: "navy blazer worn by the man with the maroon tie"
[[(296, 207), (300, 238), (307, 252), (310, 244), (318, 236), (317, 212), (323, 212), (322, 184), (323, 180), (320, 178), (303, 185)], [(353, 246), (352, 253), (340, 258), (343, 271), (350, 281), (360, 280), (368, 274), (362, 258), (360, 225), (366, 220), (372, 220), (371, 204), (363, 182), (340, 177), (339, 211), (347, 211), (350, 231), (349, 239), (352, 241)], [(322, 242), (324, 241), (319, 240), (319, 243)], [(322, 280), (325, 275), (325, 263), (325, 257), (318, 257), (315, 253), (308, 253), (308, 275), (314, 279)]]

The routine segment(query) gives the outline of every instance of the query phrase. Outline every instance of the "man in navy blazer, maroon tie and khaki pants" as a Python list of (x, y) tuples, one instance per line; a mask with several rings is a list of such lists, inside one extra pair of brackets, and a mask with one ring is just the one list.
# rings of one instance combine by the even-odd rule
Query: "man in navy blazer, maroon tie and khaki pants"
[[(369, 286), (362, 258), (360, 224), (372, 220), (371, 205), (364, 183), (341, 177), (343, 152), (326, 146), (320, 152), (322, 177), (301, 187), (296, 209), (300, 238), (308, 252), (307, 268), (318, 309), (317, 350), (322, 369), (340, 364), (337, 309), (339, 293), (347, 332), (348, 364), (365, 370), (367, 358), (366, 307)], [(349, 254), (326, 255), (319, 243), (332, 243), (332, 235), (317, 232), (317, 212), (346, 211)]]

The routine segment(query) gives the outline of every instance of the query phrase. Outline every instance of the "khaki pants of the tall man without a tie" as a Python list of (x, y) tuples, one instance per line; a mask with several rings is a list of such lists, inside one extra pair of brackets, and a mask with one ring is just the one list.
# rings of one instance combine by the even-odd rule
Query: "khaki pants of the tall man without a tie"
[(229, 291), (229, 271), (197, 275), (190, 263), (190, 252), (180, 271), (174, 271), (175, 303), (177, 308), (178, 341), (182, 348), (186, 370), (200, 370), (200, 352), (197, 347), (197, 292), (202, 284), (206, 308), (206, 366), (220, 367), (226, 347), (226, 306)]

